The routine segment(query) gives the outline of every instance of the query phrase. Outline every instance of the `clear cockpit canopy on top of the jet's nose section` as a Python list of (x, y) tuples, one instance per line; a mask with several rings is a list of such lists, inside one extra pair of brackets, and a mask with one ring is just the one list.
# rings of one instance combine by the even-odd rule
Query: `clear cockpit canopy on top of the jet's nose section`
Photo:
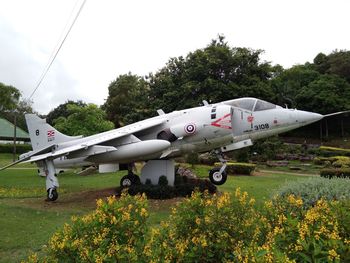
[(280, 106), (277, 106), (273, 103), (256, 99), (256, 98), (240, 98), (234, 100), (227, 100), (222, 102), (223, 104), (230, 105), (233, 107), (238, 107), (248, 111), (263, 111), (263, 110), (271, 110)]

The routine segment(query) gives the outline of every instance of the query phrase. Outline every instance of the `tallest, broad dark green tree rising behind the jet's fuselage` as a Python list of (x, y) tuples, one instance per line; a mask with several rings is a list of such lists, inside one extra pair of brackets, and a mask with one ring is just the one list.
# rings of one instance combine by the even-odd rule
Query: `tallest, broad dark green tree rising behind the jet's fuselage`
[(254, 96), (271, 99), (269, 63), (261, 62), (262, 50), (231, 48), (223, 36), (185, 58), (171, 58), (148, 77), (152, 108), (166, 112), (198, 106), (202, 100), (222, 101)]

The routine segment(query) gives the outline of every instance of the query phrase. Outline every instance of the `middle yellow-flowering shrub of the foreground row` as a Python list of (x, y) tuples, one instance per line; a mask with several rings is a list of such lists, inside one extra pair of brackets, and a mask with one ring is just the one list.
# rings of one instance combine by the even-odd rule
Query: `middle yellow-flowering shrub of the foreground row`
[(236, 191), (210, 196), (192, 194), (152, 233), (152, 259), (158, 262), (223, 262), (242, 259), (242, 247), (258, 238), (254, 199)]

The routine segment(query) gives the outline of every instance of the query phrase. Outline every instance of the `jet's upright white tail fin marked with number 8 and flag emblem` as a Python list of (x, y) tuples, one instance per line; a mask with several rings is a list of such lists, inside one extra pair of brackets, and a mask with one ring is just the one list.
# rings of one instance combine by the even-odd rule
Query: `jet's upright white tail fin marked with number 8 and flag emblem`
[(47, 124), (46, 120), (39, 118), (35, 114), (26, 114), (25, 118), (33, 150), (81, 138), (81, 136), (72, 137), (60, 133)]

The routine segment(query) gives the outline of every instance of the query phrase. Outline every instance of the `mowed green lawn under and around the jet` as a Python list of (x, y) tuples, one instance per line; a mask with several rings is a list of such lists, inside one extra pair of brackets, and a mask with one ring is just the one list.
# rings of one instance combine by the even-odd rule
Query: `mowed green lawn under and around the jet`
[[(9, 159), (9, 156), (1, 156)], [(11, 158), (11, 157), (10, 157)], [(11, 160), (10, 160), (11, 161)], [(23, 169), (26, 168), (26, 169)], [(195, 166), (200, 177), (207, 177), (209, 166)], [(83, 215), (95, 208), (95, 199), (104, 198), (119, 186), (124, 172), (79, 176), (73, 171), (59, 175), (59, 199), (45, 202), (45, 178), (37, 175), (35, 166), (0, 172), (0, 262), (19, 262), (30, 251), (42, 251), (50, 236), (72, 215)], [(257, 172), (254, 176), (230, 176), (219, 191), (234, 193), (237, 187), (254, 197), (257, 205), (269, 199), (284, 183), (305, 180), (308, 175)], [(11, 194), (14, 193), (14, 194)], [(159, 225), (181, 202), (150, 200), (151, 225)]]

